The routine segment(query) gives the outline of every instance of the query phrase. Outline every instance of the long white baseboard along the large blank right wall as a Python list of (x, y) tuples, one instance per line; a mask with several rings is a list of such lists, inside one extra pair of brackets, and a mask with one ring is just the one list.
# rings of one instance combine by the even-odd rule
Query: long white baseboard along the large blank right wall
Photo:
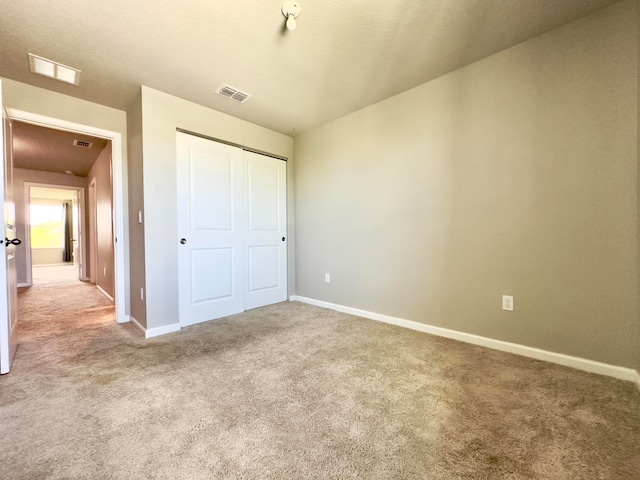
[(549, 352), (546, 350), (540, 350), (538, 348), (527, 347), (525, 345), (520, 345), (517, 343), (503, 342), (502, 340), (494, 340), (492, 338), (481, 337), (479, 335), (473, 335), (471, 333), (464, 333), (457, 330), (449, 330), (448, 328), (435, 327), (432, 325), (426, 325), (424, 323), (414, 322), (412, 320), (405, 320), (403, 318), (391, 317), (388, 315), (368, 312), (366, 310), (360, 310), (357, 308), (345, 307), (344, 305), (324, 302), (322, 300), (302, 297), (299, 295), (291, 296), (290, 300), (308, 303), (309, 305), (328, 308), (331, 310), (336, 310), (338, 312), (368, 318), (370, 320), (389, 323), (391, 325), (410, 328), (412, 330), (429, 333), (431, 335), (437, 335), (439, 337), (446, 337), (461, 342), (480, 345), (482, 347), (487, 347), (494, 350), (515, 353), (516, 355), (522, 355), (524, 357), (535, 358), (536, 360), (543, 360), (545, 362), (564, 365), (566, 367), (584, 370), (585, 372), (597, 373), (600, 375), (607, 375), (609, 377), (618, 378), (620, 380), (631, 381), (636, 383), (638, 389), (640, 389), (640, 374), (638, 374), (636, 370), (633, 370), (631, 368), (618, 367), (615, 365), (609, 365), (607, 363), (588, 360), (586, 358), (572, 357), (570, 355), (564, 355), (562, 353)]

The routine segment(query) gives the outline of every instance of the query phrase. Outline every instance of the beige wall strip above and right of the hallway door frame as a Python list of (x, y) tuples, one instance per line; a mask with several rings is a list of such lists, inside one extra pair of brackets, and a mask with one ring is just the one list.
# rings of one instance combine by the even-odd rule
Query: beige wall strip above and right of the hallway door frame
[[(60, 93), (33, 87), (9, 79), (2, 79), (3, 94), (7, 107), (69, 122), (88, 125), (120, 133), (123, 159), (123, 209), (124, 231), (119, 232), (123, 242), (125, 258), (125, 315), (129, 315), (129, 210), (127, 188), (127, 114), (122, 110), (69, 97)], [(86, 179), (85, 179), (86, 181)]]

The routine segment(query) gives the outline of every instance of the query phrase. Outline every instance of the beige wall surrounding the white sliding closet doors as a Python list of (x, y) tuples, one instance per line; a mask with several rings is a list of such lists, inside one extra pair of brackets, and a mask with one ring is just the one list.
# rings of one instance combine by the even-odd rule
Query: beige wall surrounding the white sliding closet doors
[[(147, 328), (156, 328), (178, 322), (176, 128), (289, 158), (293, 153), (293, 139), (145, 86), (142, 87), (141, 118), (146, 320), (138, 320)], [(288, 187), (292, 188), (292, 161), (287, 164), (287, 171)], [(290, 189), (290, 289), (295, 285), (292, 197)], [(131, 287), (132, 291), (137, 291), (140, 285), (132, 284)]]

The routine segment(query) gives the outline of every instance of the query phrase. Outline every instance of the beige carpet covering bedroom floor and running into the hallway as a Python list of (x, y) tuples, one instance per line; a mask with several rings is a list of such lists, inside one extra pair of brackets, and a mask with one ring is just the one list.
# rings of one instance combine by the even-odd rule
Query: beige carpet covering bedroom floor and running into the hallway
[(20, 315), (2, 479), (640, 478), (631, 383), (300, 303), (151, 340), (86, 284)]

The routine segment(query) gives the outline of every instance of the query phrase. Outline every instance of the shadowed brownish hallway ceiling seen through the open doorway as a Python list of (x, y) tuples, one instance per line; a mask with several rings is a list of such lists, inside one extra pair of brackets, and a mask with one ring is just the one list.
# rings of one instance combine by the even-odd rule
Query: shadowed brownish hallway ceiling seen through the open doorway
[[(13, 166), (30, 170), (65, 173), (86, 177), (107, 140), (89, 135), (13, 122)], [(93, 143), (91, 148), (76, 147), (74, 140)]]

